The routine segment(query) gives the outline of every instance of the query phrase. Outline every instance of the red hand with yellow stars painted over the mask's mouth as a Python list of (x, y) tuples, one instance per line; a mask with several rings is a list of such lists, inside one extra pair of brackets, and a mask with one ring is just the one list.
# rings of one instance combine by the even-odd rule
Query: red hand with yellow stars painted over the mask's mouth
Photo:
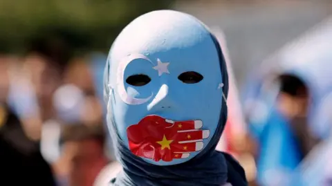
[(149, 115), (127, 128), (129, 149), (136, 156), (158, 162), (188, 158), (190, 152), (203, 149), (209, 130), (201, 130), (201, 120), (172, 121)]

